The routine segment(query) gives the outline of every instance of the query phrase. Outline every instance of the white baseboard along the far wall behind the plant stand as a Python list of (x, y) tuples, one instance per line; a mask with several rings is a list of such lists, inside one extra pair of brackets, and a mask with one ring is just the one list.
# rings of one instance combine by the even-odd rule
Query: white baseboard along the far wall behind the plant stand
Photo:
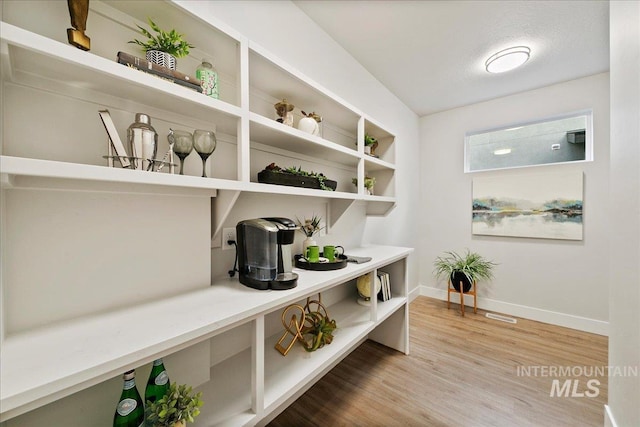
[[(447, 300), (447, 291), (445, 289), (432, 288), (424, 285), (419, 286), (419, 288), (420, 295), (443, 301)], [(452, 301), (458, 302), (458, 299), (454, 299), (453, 296), (451, 299)], [(465, 304), (473, 307), (473, 298), (471, 296), (465, 296)], [(602, 320), (594, 320), (586, 317), (574, 316), (572, 314), (559, 313), (483, 297), (478, 297), (478, 307), (483, 310), (496, 311), (498, 313), (510, 314), (524, 319), (536, 320), (538, 322), (550, 323), (552, 325), (577, 329), (579, 331), (609, 336), (609, 322), (603, 322)]]

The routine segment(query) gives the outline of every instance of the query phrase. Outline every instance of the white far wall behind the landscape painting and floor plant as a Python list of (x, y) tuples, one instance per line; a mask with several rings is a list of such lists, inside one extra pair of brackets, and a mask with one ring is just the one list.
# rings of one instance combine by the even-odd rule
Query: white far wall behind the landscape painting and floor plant
[[(463, 172), (464, 135), (593, 109), (594, 161), (567, 165)], [(445, 250), (469, 248), (499, 263), (495, 279), (481, 283), (485, 308), (606, 333), (609, 249), (609, 75), (598, 74), (421, 118), (420, 283), (446, 298), (432, 262)], [(474, 177), (584, 172), (584, 240), (564, 241), (471, 235)]]

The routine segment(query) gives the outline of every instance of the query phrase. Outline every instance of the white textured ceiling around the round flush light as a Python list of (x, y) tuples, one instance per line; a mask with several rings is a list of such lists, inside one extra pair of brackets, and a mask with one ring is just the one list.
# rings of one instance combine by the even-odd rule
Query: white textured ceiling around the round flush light
[[(607, 1), (294, 3), (420, 116), (609, 70)], [(516, 45), (523, 67), (485, 71)]]

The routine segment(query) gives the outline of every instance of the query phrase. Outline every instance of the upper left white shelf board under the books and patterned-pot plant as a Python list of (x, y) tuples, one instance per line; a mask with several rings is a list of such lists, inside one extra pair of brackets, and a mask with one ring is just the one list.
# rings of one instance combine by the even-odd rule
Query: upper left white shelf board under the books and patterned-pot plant
[(90, 52), (2, 22), (5, 75), (13, 82), (55, 81), (66, 93), (95, 91), (135, 99), (180, 115), (216, 123), (217, 131), (237, 134), (240, 108), (178, 84), (118, 64)]

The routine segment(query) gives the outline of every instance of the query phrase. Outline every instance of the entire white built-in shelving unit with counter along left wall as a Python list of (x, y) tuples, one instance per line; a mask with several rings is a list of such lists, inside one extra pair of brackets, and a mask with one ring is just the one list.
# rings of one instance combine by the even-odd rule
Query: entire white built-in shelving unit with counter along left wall
[[(29, 107), (14, 105), (18, 102), (14, 97), (3, 95), (3, 198), (16, 190), (206, 198), (212, 205), (212, 238), (219, 235), (242, 193), (326, 200), (331, 207), (329, 225), (356, 202), (366, 204), (368, 215), (386, 215), (395, 206), (393, 132), (261, 46), (223, 23), (204, 22), (172, 2), (92, 0), (88, 31), (92, 48), (84, 52), (66, 43), (69, 18), (66, 3), (59, 7), (62, 3), (3, 2), (3, 92), (19, 88), (64, 95), (91, 107), (71, 115), (54, 108), (31, 121), (15, 120), (13, 114), (24, 113)], [(198, 47), (189, 58), (179, 60), (178, 68), (192, 72), (199, 63), (197, 58), (213, 56), (220, 74), (221, 99), (208, 98), (115, 61), (118, 50), (140, 55), (127, 41), (138, 36), (135, 24), (144, 25), (147, 16), (153, 16), (161, 27), (199, 35)], [(296, 105), (297, 119), (300, 110), (321, 114), (321, 135), (312, 136), (276, 122), (273, 104), (283, 98)], [(131, 115), (147, 112), (161, 135), (159, 153), (168, 147), (165, 136), (170, 127), (193, 130), (215, 126), (224, 146), (210, 160), (210, 178), (199, 176), (199, 159), (192, 160), (184, 176), (107, 167), (102, 158), (107, 154), (107, 138), (98, 107), (115, 111), (121, 138), (131, 120), (118, 111)], [(378, 157), (364, 153), (365, 133), (378, 139)], [(315, 170), (326, 170), (330, 179), (337, 178), (337, 191), (258, 183), (257, 172), (272, 157), (295, 159)], [(356, 187), (351, 183), (352, 177), (362, 183), (365, 176), (376, 177), (375, 195), (366, 194), (362, 184)], [(6, 226), (3, 220), (3, 236)], [(11, 249), (3, 239), (3, 252)], [(241, 328), (251, 331), (250, 339), (233, 354), (216, 360), (211, 367), (212, 380), (200, 386), (209, 404), (198, 424), (264, 423), (367, 337), (408, 352), (406, 263), (411, 249), (350, 248), (349, 253), (373, 259), (333, 272), (298, 271), (299, 284), (290, 291), (260, 292), (243, 287), (237, 279), (214, 279), (205, 289), (17, 332), (3, 323), (0, 420), (14, 419), (118, 377), (126, 369)], [(358, 305), (353, 281), (378, 269), (391, 274), (394, 298), (384, 303), (374, 300), (371, 307)], [(1, 303), (6, 308), (12, 297), (6, 291), (7, 284), (2, 285)], [(64, 292), (64, 284), (59, 285)], [(311, 355), (292, 351), (281, 356), (273, 350), (281, 333), (279, 313), (286, 305), (318, 293), (337, 320), (335, 341)], [(163, 317), (167, 311), (182, 313), (180, 321)], [(150, 328), (156, 332), (149, 334)], [(104, 420), (96, 421), (96, 425), (101, 423)]]

